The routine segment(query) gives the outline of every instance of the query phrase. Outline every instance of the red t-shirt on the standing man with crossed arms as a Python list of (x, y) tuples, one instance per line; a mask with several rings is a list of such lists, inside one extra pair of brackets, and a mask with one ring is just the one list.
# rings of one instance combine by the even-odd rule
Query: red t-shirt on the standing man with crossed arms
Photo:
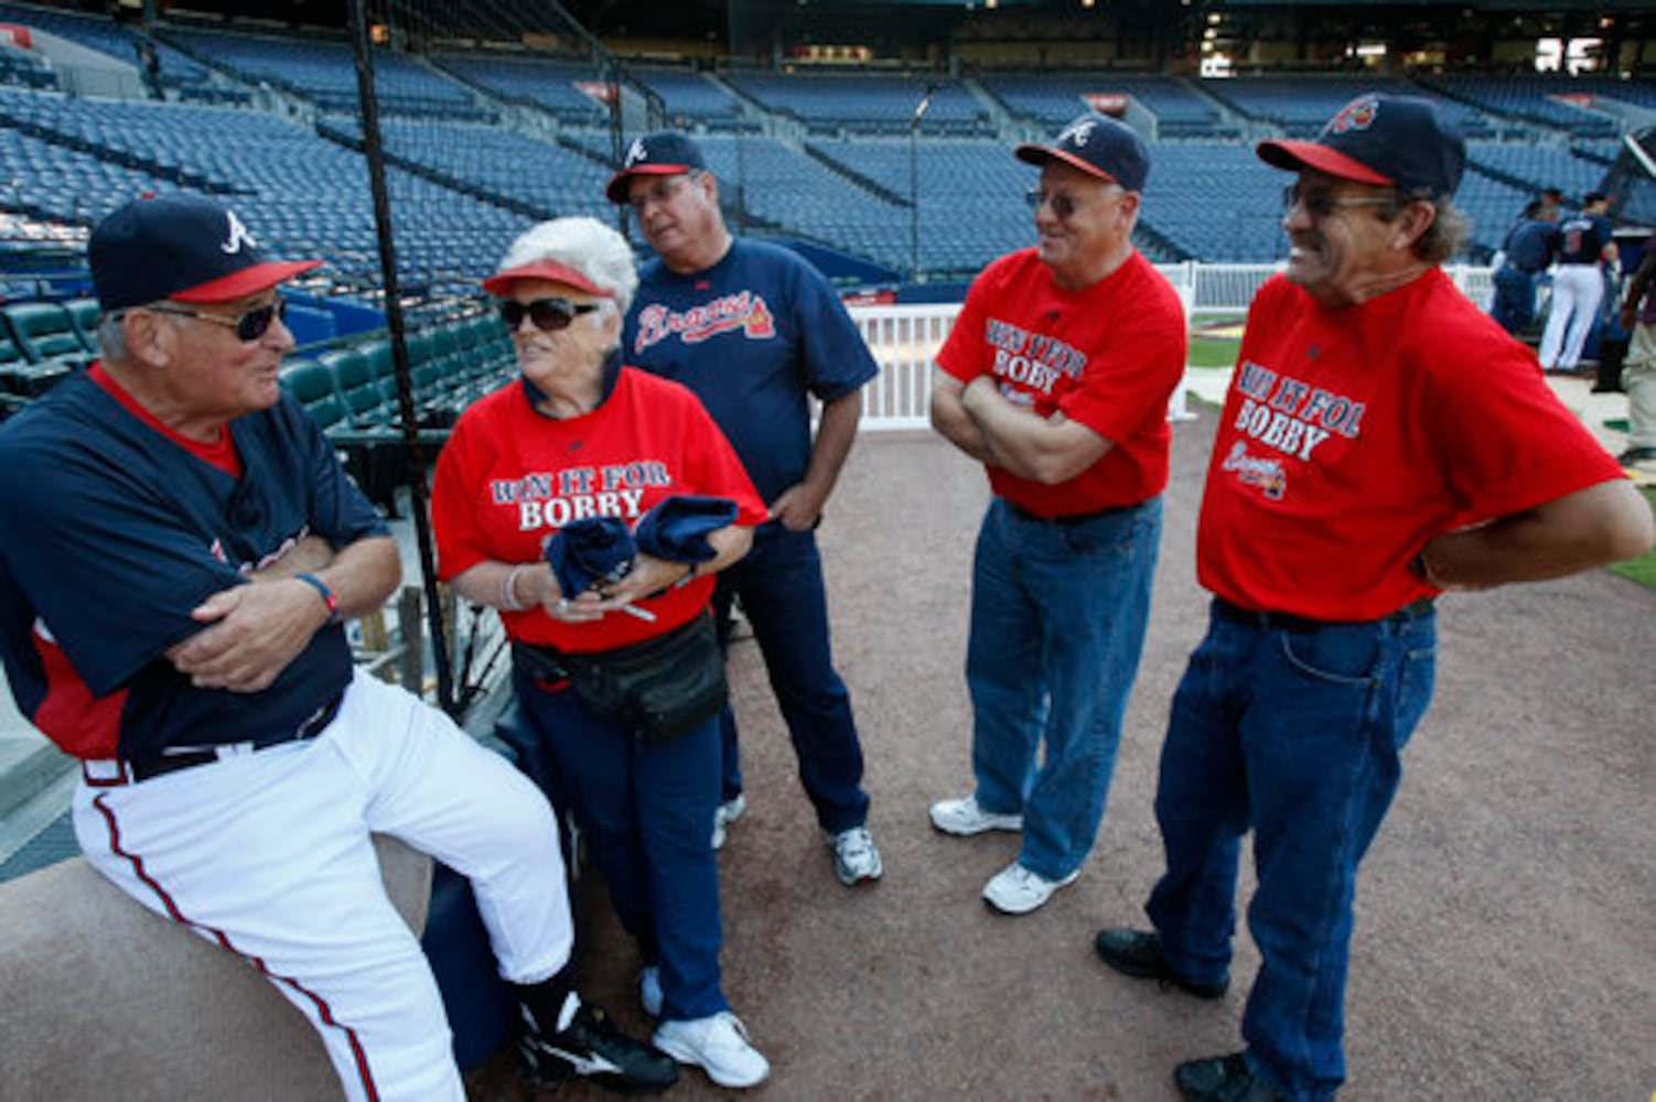
[(984, 268), (937, 366), (960, 382), (992, 372), (1042, 417), (1063, 412), (1111, 442), (1101, 460), (1047, 486), (989, 467), (989, 485), (1037, 516), (1138, 505), (1167, 485), (1167, 399), (1184, 376), (1179, 295), (1141, 255), (1066, 291), (1033, 248)]

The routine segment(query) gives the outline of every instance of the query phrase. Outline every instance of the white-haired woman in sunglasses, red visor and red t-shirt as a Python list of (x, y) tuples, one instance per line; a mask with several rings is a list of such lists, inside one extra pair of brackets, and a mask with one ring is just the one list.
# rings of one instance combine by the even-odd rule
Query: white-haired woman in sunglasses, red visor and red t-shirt
[[(573, 812), (644, 961), (656, 1046), (725, 1087), (770, 1072), (720, 988), (719, 872), (707, 824), (719, 803), (717, 713), (651, 735), (599, 713), (570, 680), (580, 662), (636, 654), (709, 616), (714, 574), (740, 559), (765, 506), (700, 402), (626, 367), (621, 319), (633, 250), (593, 218), (522, 235), (484, 281), (512, 331), (522, 377), (460, 417), (437, 462), (432, 518), (442, 577), (500, 611), (525, 718), (520, 763)], [(628, 526), (679, 495), (729, 498), (735, 523), (712, 558), (639, 553), (619, 581), (566, 592), (548, 543), (591, 518)], [(571, 529), (571, 534), (573, 531)], [(525, 1051), (533, 1074), (537, 1054)], [(551, 1064), (555, 1066), (555, 1064)]]

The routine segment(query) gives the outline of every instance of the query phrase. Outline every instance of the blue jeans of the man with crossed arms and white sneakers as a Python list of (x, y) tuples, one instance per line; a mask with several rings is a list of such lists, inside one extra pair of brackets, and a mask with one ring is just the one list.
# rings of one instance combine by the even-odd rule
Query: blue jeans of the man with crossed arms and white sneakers
[(1066, 525), (995, 498), (977, 534), (977, 803), (1023, 816), (1018, 860), (1048, 880), (1081, 867), (1105, 817), (1159, 543), (1161, 498)]

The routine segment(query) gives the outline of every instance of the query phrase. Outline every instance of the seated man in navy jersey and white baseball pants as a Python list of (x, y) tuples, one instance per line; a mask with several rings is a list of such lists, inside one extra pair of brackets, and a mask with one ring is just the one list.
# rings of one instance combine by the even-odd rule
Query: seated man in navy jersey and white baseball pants
[[(0, 654), (81, 759), (88, 860), (240, 955), (320, 1033), (349, 1099), (464, 1099), (442, 999), (369, 832), (472, 879), (546, 1067), (672, 1082), (573, 991), (556, 821), (440, 712), (354, 670), (343, 617), (396, 541), (278, 386), (293, 336), (265, 260), (189, 195), (88, 245), (103, 359), (0, 429)], [(119, 951), (119, 946), (113, 946)]]

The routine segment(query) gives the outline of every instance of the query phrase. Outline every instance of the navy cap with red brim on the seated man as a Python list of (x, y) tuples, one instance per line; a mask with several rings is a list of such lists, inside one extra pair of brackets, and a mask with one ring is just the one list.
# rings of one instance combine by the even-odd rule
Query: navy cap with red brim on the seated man
[(265, 258), (233, 210), (200, 195), (134, 199), (98, 223), (86, 260), (106, 313), (164, 298), (224, 303), (321, 265)]

